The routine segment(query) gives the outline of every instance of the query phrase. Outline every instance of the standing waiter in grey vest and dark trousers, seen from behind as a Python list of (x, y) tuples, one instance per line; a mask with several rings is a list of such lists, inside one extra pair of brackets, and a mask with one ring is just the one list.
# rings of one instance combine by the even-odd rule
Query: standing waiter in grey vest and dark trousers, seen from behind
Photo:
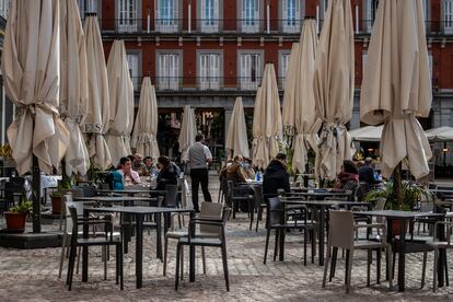
[(208, 190), (208, 164), (212, 163), (212, 154), (204, 142), (205, 136), (197, 135), (195, 137), (195, 143), (188, 150), (188, 165), (190, 167), (191, 178), (191, 202), (194, 204), (196, 212), (199, 212), (198, 186), (200, 183), (205, 201), (212, 201), (211, 195)]

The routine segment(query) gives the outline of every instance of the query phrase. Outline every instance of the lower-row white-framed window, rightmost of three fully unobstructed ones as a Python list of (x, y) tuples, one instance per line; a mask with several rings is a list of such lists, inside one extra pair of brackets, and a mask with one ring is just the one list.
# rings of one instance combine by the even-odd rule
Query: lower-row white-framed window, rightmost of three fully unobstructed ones
[(239, 83), (242, 90), (256, 90), (263, 78), (263, 59), (259, 51), (240, 53)]

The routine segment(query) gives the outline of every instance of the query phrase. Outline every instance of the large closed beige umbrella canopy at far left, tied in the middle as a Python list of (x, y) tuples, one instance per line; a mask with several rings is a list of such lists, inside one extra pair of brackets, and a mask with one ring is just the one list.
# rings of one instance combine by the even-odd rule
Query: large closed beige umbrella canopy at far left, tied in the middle
[(59, 1), (18, 0), (8, 16), (2, 74), (8, 97), (18, 107), (8, 129), (19, 174), (32, 167), (32, 154), (46, 173), (58, 167), (69, 144), (59, 106)]

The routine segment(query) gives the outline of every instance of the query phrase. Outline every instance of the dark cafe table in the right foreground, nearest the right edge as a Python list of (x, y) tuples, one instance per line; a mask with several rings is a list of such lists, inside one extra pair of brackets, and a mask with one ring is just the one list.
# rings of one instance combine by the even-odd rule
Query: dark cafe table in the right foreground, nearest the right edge
[[(411, 211), (395, 211), (395, 210), (379, 210), (379, 211), (358, 211), (360, 216), (374, 216), (384, 217), (387, 220), (387, 241), (392, 241), (392, 221), (399, 220), (399, 247), (398, 247), (398, 291), (405, 290), (405, 239), (406, 239), (406, 222), (416, 218), (438, 218), (443, 219), (444, 213), (432, 213), (432, 212), (411, 212)], [(439, 232), (439, 236), (444, 236), (444, 232)], [(443, 263), (446, 254), (441, 251), (439, 257), (439, 287), (443, 287)]]

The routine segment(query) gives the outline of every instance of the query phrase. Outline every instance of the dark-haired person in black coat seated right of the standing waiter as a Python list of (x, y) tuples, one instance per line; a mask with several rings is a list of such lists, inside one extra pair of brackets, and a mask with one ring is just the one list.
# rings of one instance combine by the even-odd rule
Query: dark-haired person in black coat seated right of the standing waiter
[(264, 194), (275, 194), (277, 196), (278, 189), (283, 189), (287, 193), (291, 190), (286, 160), (287, 155), (278, 153), (270, 161), (263, 176)]

